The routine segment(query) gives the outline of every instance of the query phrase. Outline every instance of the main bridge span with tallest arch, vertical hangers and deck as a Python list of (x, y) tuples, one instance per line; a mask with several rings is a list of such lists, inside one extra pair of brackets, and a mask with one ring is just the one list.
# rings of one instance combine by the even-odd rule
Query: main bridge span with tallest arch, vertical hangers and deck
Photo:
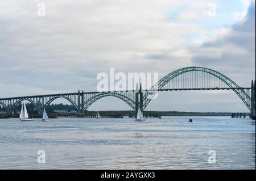
[[(188, 83), (190, 81), (190, 83)], [(146, 91), (143, 96), (143, 110), (148, 103), (154, 98), (158, 91), (163, 90), (233, 90), (238, 97), (245, 103), (246, 107), (251, 109), (251, 100), (249, 89), (242, 88), (237, 85), (232, 79), (226, 77), (218, 71), (202, 68), (202, 67), (187, 67), (175, 70), (172, 73), (164, 76), (156, 83), (151, 90)]]

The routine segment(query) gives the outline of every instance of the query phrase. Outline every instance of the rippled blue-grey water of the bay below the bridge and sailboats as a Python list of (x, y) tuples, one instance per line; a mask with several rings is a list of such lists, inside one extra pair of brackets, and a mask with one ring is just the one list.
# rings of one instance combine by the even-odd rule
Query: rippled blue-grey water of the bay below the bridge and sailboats
[(189, 118), (1, 119), (0, 169), (255, 169), (255, 121)]

